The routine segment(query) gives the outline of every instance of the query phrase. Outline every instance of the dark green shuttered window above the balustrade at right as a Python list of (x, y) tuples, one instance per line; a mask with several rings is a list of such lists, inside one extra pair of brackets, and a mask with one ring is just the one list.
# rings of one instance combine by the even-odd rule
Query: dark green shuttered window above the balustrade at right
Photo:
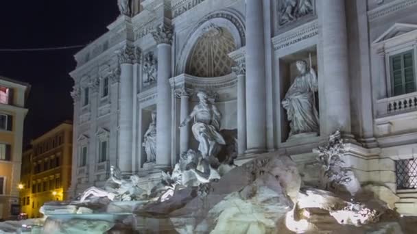
[(390, 64), (392, 96), (415, 92), (414, 51), (391, 56)]

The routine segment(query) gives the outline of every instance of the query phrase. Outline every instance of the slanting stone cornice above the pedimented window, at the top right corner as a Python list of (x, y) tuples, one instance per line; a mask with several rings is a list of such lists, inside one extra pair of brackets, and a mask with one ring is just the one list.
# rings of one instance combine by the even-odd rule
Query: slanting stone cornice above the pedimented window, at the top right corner
[(392, 1), (391, 3), (381, 5), (378, 8), (368, 11), (368, 21), (370, 22), (375, 21), (378, 18), (388, 16), (389, 14), (398, 12), (399, 10), (404, 10), (413, 5), (417, 5), (417, 0)]

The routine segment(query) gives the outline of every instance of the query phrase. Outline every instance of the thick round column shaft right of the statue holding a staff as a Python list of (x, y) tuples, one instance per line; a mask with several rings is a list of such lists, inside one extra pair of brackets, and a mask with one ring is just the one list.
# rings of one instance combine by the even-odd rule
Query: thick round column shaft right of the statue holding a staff
[[(326, 96), (325, 133), (350, 133), (348, 44), (344, 0), (323, 0), (320, 9)], [(320, 78), (319, 78), (320, 79)]]

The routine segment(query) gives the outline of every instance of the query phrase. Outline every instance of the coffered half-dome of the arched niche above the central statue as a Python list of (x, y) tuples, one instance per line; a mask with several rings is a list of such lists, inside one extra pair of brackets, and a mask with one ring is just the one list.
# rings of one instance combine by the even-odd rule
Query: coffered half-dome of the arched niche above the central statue
[(209, 25), (193, 45), (185, 71), (195, 77), (228, 75), (234, 64), (228, 54), (236, 49), (235, 39), (228, 29)]

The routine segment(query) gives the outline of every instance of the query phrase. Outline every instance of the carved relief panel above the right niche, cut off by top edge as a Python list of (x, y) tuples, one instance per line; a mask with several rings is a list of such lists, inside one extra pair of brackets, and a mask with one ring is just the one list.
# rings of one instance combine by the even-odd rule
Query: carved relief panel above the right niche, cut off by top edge
[(311, 12), (313, 12), (311, 0), (283, 0), (280, 8), (279, 24), (285, 25), (302, 16), (307, 16)]

